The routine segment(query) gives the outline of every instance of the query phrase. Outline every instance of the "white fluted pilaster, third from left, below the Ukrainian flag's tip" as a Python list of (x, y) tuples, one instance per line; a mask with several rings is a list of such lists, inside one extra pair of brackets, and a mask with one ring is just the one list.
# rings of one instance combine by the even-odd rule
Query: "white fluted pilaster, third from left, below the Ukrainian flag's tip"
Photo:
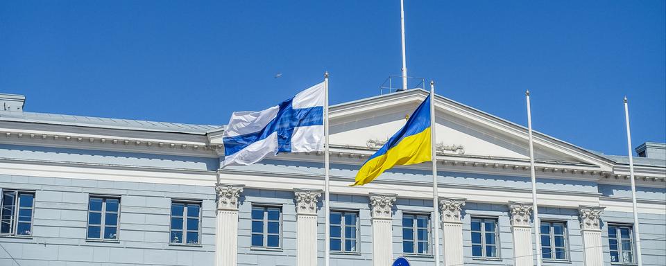
[(393, 202), (395, 194), (370, 193), (370, 209), (373, 216), (373, 265), (393, 263)]

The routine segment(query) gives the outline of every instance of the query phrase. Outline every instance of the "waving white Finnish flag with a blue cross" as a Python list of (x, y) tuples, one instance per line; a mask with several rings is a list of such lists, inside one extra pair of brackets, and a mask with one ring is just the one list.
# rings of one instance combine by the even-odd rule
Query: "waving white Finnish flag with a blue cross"
[(222, 134), (225, 166), (247, 166), (278, 152), (324, 150), (324, 82), (260, 112), (234, 112)]

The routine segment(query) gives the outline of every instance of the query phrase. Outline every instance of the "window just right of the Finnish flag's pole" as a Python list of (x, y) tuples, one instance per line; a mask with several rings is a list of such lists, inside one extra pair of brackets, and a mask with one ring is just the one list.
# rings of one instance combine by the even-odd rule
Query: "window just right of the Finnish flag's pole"
[(356, 252), (358, 242), (359, 214), (345, 211), (332, 211), (331, 222), (331, 250), (343, 252)]

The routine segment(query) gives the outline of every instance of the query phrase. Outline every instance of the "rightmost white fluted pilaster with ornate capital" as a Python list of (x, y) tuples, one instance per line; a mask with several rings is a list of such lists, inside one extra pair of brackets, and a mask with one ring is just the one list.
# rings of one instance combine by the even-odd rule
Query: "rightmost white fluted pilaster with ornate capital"
[(604, 249), (601, 243), (601, 227), (599, 226), (599, 215), (604, 207), (579, 206), (579, 217), (581, 219), (581, 236), (583, 236), (583, 258), (585, 265), (603, 265)]

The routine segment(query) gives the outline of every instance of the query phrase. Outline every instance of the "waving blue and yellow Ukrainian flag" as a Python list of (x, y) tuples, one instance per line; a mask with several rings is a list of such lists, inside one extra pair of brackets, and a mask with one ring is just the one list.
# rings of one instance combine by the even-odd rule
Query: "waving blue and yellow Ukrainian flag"
[(393, 166), (407, 166), (432, 160), (430, 136), (430, 101), (425, 98), (407, 120), (407, 124), (388, 139), (356, 174), (356, 182), (350, 186), (362, 186), (379, 177)]

